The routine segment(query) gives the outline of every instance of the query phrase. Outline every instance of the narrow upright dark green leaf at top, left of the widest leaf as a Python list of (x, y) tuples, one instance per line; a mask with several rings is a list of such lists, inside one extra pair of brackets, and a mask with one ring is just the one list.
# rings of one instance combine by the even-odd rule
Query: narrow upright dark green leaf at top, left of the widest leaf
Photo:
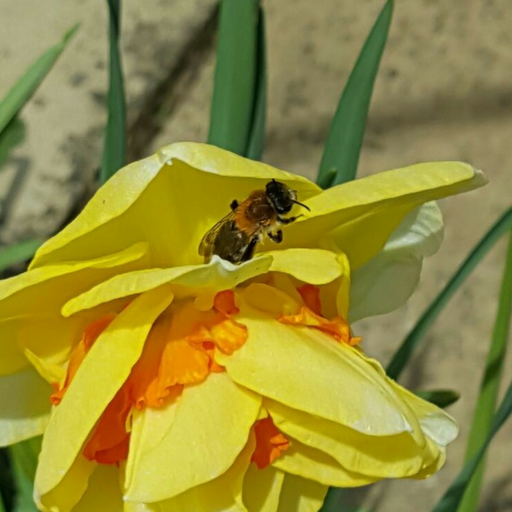
[(126, 163), (126, 106), (123, 69), (119, 53), (121, 31), (121, 0), (107, 0), (109, 10), (109, 91), (108, 121), (100, 172), (105, 183)]

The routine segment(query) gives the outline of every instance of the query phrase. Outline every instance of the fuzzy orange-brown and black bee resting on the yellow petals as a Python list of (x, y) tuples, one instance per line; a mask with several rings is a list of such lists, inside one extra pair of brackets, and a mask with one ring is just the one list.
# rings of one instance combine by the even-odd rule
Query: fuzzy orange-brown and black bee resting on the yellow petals
[(290, 213), (292, 206), (299, 204), (310, 211), (306, 204), (297, 201), (297, 191), (272, 179), (265, 190), (252, 191), (246, 200), (231, 202), (231, 211), (204, 235), (199, 245), (199, 254), (208, 263), (213, 254), (231, 263), (249, 261), (254, 256), (258, 243), (265, 236), (272, 242), (283, 241), (280, 227), (291, 224), (297, 217), (282, 217)]

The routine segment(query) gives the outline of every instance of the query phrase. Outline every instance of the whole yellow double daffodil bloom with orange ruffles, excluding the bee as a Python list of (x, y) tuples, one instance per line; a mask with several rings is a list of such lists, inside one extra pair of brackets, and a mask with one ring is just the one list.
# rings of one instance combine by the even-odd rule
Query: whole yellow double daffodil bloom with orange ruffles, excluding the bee
[[(272, 178), (310, 213), (251, 261), (203, 263)], [(347, 321), (405, 301), (441, 240), (430, 202), (484, 182), (439, 162), (321, 191), (199, 143), (121, 169), (0, 283), (0, 443), (44, 434), (39, 508), (312, 511), (328, 486), (434, 473), (457, 426)]]

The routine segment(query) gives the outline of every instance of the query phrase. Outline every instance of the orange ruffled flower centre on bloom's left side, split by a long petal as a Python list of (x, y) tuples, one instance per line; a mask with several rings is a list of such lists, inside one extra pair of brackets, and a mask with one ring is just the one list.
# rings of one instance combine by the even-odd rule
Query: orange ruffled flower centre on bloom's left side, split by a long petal
[[(143, 352), (116, 396), (111, 400), (85, 443), (83, 454), (100, 464), (127, 458), (132, 408), (163, 407), (176, 400), (185, 385), (202, 382), (210, 372), (225, 371), (213, 360), (215, 348), (231, 354), (247, 339), (247, 328), (232, 318), (238, 313), (234, 293), (219, 292), (213, 308), (197, 310), (192, 301), (164, 313), (155, 323)], [(85, 328), (73, 349), (64, 385), (54, 385), (51, 403), (58, 405), (91, 346), (115, 314), (105, 315)]]

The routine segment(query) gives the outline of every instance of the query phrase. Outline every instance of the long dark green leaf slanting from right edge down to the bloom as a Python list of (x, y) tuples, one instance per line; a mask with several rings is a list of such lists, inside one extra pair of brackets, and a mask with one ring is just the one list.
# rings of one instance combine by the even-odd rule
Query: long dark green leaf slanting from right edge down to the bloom
[(482, 258), (490, 251), (497, 240), (512, 227), (512, 208), (507, 210), (502, 217), (491, 227), (484, 238), (478, 242), (473, 251), (470, 252), (464, 263), (459, 267), (446, 283), (439, 295), (430, 303), (430, 306), (423, 312), (421, 318), (416, 322), (414, 328), (404, 339), (398, 351), (394, 354), (391, 362), (386, 369), (387, 374), (394, 380), (398, 380), (400, 374), (409, 359), (412, 357), (414, 349), (418, 346), (427, 330), (432, 326), (439, 313), (446, 306), (452, 295), (459, 289), (459, 286), (466, 281), (466, 278), (473, 272), (475, 267), (482, 261)]

